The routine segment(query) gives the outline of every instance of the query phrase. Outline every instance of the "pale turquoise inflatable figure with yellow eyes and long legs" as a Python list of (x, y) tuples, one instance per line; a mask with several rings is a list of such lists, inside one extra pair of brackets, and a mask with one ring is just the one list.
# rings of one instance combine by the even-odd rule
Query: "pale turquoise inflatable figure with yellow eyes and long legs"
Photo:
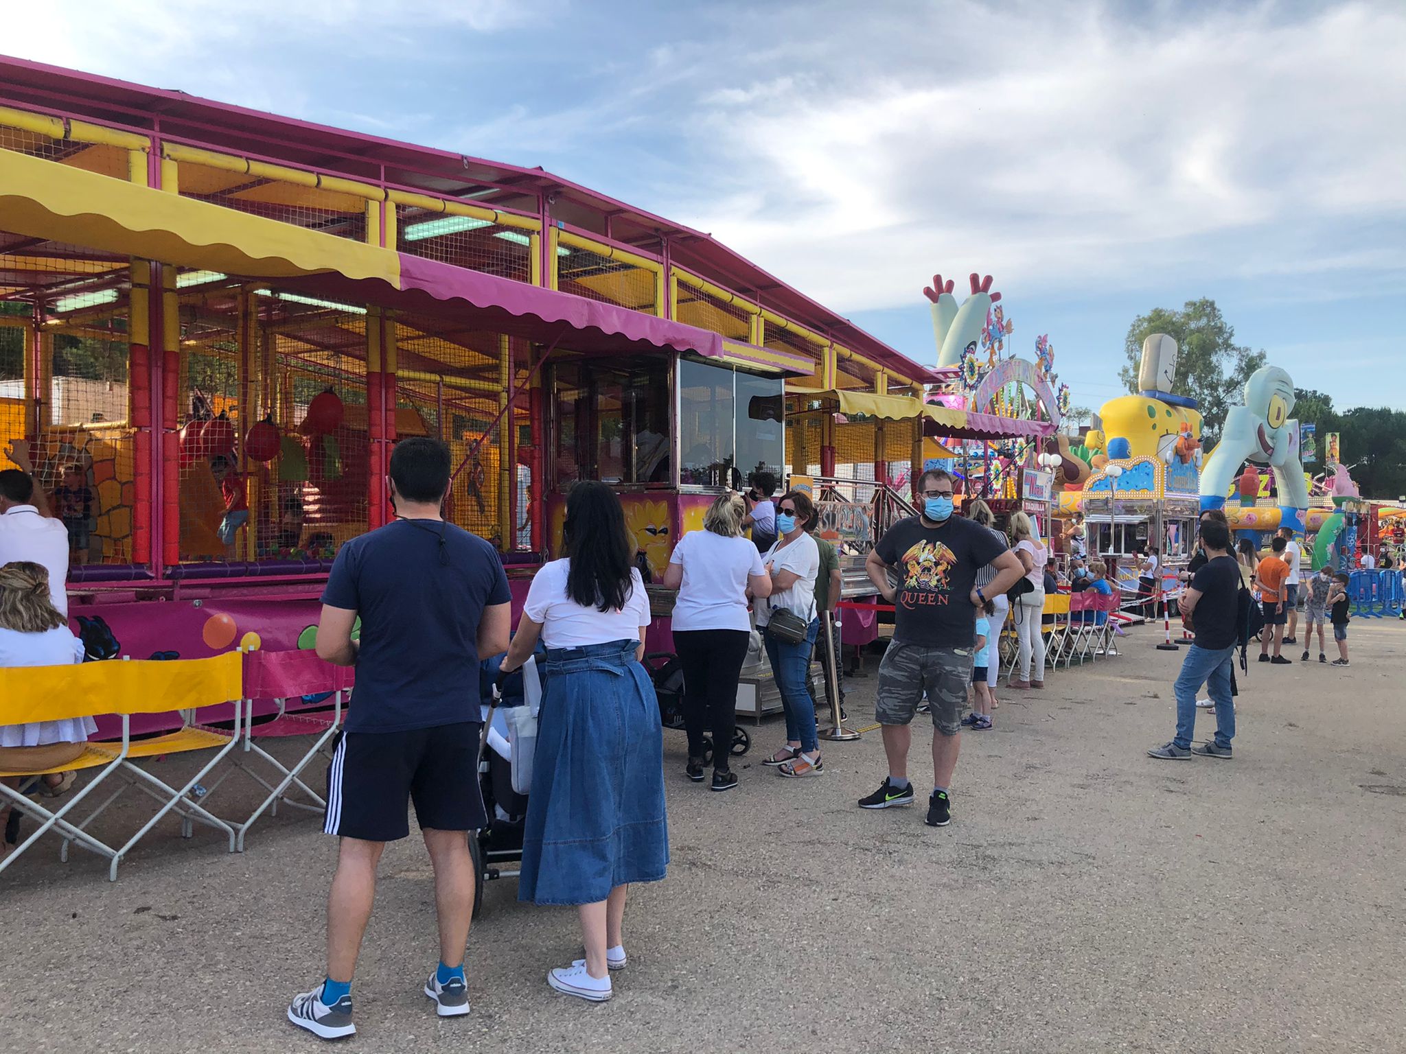
[(1299, 462), (1299, 423), (1294, 410), (1294, 378), (1277, 365), (1256, 370), (1244, 385), (1244, 405), (1226, 413), (1220, 443), (1201, 471), (1201, 507), (1220, 509), (1240, 465), (1251, 461), (1274, 469), (1279, 490), (1279, 526), (1303, 530), (1309, 489)]

